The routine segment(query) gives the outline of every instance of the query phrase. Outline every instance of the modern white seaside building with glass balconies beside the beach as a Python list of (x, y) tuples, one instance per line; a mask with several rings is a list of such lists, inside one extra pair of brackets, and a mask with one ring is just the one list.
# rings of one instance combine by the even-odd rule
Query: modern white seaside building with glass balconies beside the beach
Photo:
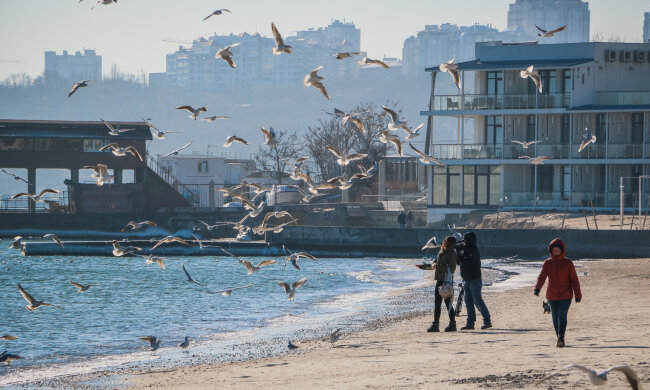
[[(519, 72), (534, 65), (543, 91)], [(555, 45), (480, 43), (476, 59), (458, 64), (474, 85), (436, 93), (448, 73), (431, 73), (427, 151), (447, 166), (428, 168), (429, 221), (436, 214), (503, 207), (617, 209), (650, 175), (650, 44)], [(474, 93), (466, 93), (466, 88)], [(453, 118), (458, 141), (431, 143), (436, 122)], [(578, 151), (585, 128), (595, 144)], [(512, 142), (540, 141), (528, 149)], [(533, 165), (520, 157), (549, 156)], [(623, 178), (623, 179), (621, 179)], [(647, 186), (641, 199), (647, 207)]]

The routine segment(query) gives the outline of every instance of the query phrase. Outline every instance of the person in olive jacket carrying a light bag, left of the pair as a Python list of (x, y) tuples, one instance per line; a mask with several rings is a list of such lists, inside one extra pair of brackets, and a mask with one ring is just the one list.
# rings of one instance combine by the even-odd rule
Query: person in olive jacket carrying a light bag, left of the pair
[[(445, 238), (436, 256), (436, 260), (433, 263), (433, 268), (435, 269), (435, 308), (433, 310), (433, 323), (427, 329), (427, 332), (440, 332), (440, 312), (442, 311), (442, 295), (438, 289), (445, 282), (445, 276), (447, 274), (447, 269), (451, 274), (454, 274), (456, 271), (456, 263), (458, 258), (456, 256), (456, 237), (449, 236)], [(454, 307), (451, 302), (451, 297), (444, 300), (445, 306), (447, 307), (447, 312), (449, 313), (449, 325), (445, 328), (445, 332), (455, 332), (456, 331), (456, 313), (454, 313)]]

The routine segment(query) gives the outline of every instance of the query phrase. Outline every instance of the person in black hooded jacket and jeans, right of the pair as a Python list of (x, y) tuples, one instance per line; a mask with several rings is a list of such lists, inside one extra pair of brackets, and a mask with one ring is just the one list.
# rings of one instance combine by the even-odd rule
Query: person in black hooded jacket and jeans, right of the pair
[(467, 322), (461, 330), (474, 329), (476, 322), (476, 310), (474, 305), (481, 312), (483, 317), (483, 326), (481, 329), (492, 327), (490, 311), (488, 310), (481, 290), (483, 289), (483, 280), (481, 278), (481, 254), (476, 246), (476, 233), (468, 232), (463, 236), (463, 242), (456, 245), (458, 252), (458, 263), (460, 264), (460, 276), (465, 283), (463, 289), (465, 292), (465, 307), (467, 307)]

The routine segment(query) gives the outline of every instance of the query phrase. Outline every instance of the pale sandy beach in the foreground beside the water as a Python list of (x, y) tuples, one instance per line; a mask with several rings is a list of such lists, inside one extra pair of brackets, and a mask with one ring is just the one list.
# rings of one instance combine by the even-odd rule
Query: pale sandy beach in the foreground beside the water
[[(140, 372), (127, 384), (134, 389), (591, 388), (573, 371), (538, 384), (556, 369), (580, 363), (596, 369), (631, 365), (647, 386), (650, 259), (576, 265), (584, 298), (571, 306), (564, 349), (555, 347), (550, 315), (543, 314), (531, 285), (486, 296), (494, 324), (487, 331), (427, 333), (431, 314), (426, 314), (345, 335), (334, 347), (312, 341), (283, 357)], [(458, 321), (460, 327), (464, 316)], [(629, 386), (623, 375), (612, 374), (608, 388)]]

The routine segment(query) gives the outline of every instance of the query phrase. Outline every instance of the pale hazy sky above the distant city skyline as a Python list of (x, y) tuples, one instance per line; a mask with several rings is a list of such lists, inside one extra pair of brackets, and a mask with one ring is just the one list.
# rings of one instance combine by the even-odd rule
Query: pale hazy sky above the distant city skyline
[[(162, 72), (165, 54), (178, 46), (162, 42), (163, 38), (192, 40), (244, 31), (270, 36), (271, 21), (284, 35), (293, 35), (345, 18), (361, 29), (361, 48), (371, 57), (401, 58), (404, 40), (425, 24), (492, 23), (505, 28), (513, 1), (119, 0), (91, 11), (95, 0), (0, 0), (0, 79), (15, 72), (40, 74), (46, 50), (83, 48), (103, 56), (104, 73), (113, 63), (131, 73)], [(233, 13), (201, 21), (216, 8)], [(592, 0), (589, 8), (592, 35), (601, 32), (641, 41), (643, 12), (650, 11), (650, 1)]]

